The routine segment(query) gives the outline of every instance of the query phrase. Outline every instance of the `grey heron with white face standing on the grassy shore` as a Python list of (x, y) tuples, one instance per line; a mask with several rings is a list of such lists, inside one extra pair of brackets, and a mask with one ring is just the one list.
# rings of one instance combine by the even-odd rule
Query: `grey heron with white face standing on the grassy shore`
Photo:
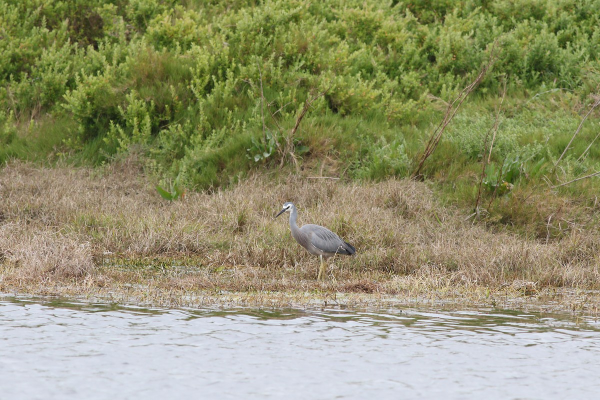
[(296, 210), (296, 206), (291, 201), (287, 201), (283, 204), (283, 209), (281, 209), (281, 211), (275, 215), (275, 218), (286, 211), (290, 212), (290, 230), (292, 231), (292, 236), (294, 239), (296, 239), (296, 242), (307, 249), (310, 254), (319, 256), (321, 266), (317, 280), (320, 281), (325, 279), (327, 269), (325, 262), (327, 258), (332, 257), (335, 254), (355, 254), (356, 249), (354, 246), (348, 242), (344, 242), (340, 236), (337, 236), (337, 234), (333, 233), (326, 227), (322, 227), (321, 225), (307, 224), (302, 225), (302, 227), (299, 228), (298, 225), (296, 225), (296, 219), (298, 219), (298, 210)]

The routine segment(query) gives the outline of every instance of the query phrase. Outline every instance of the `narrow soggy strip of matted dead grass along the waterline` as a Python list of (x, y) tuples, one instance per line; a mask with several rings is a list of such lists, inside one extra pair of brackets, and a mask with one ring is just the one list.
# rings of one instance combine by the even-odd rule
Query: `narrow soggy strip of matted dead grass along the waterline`
[[(92, 283), (92, 284), (91, 284)], [(313, 291), (186, 290), (164, 285), (112, 282), (0, 282), (0, 293), (35, 298), (83, 299), (102, 303), (136, 304), (171, 308), (424, 308), (424, 309), (522, 309), (532, 312), (575, 312), (600, 315), (600, 293), (573, 288), (541, 288), (524, 291), (515, 287), (452, 287), (398, 294)]]

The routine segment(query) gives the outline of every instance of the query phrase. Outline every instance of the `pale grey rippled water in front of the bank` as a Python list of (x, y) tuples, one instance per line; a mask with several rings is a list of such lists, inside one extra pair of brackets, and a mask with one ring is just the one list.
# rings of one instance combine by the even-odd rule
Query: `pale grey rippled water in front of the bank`
[(596, 399), (600, 321), (0, 297), (2, 399)]

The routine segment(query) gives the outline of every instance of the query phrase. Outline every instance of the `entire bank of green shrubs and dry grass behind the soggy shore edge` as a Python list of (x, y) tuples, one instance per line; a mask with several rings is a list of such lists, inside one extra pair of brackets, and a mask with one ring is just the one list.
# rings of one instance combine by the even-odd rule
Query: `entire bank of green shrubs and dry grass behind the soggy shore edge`
[(599, 8), (0, 0), (0, 285), (598, 290)]

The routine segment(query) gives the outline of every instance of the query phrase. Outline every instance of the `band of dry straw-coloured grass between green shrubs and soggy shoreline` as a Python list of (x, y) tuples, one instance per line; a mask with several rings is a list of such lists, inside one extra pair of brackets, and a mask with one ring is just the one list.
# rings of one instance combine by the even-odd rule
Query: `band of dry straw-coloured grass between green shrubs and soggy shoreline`
[[(130, 159), (104, 170), (11, 163), (1, 170), (0, 193), (4, 291), (114, 293), (133, 284), (155, 300), (236, 293), (268, 302), (290, 293), (491, 299), (600, 287), (597, 229), (550, 243), (493, 233), (409, 180), (254, 176), (170, 203)], [(273, 219), (288, 200), (301, 224), (328, 226), (356, 246), (356, 257), (331, 260), (331, 281), (316, 281), (316, 258), (293, 241), (287, 221)]]

